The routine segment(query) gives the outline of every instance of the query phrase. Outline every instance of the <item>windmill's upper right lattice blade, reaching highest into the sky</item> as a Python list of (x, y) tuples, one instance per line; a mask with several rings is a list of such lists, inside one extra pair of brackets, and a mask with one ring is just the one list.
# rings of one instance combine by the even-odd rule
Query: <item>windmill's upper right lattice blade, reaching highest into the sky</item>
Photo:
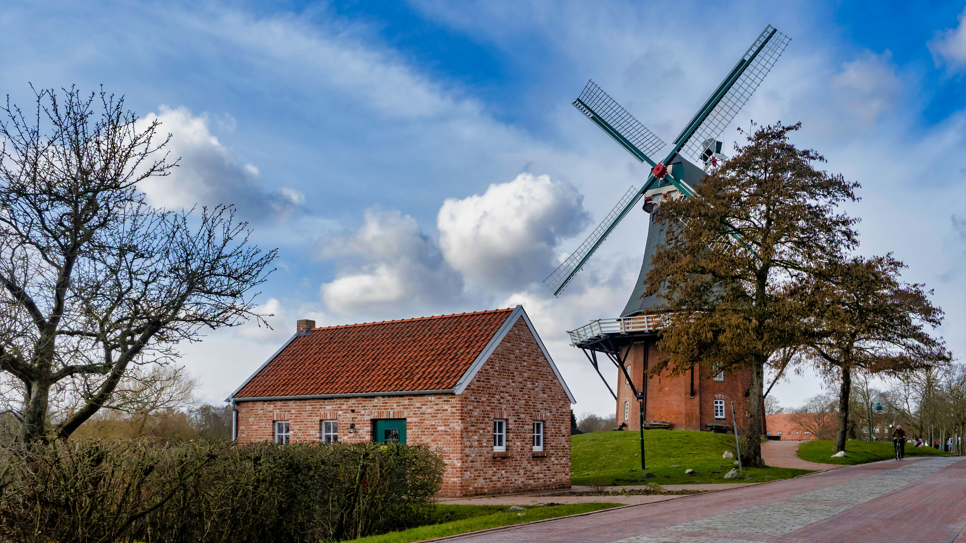
[[(758, 39), (752, 43), (752, 46), (748, 48), (748, 51), (738, 61), (738, 64), (749, 62), (753, 52), (762, 42), (768, 40), (773, 30), (775, 29), (771, 25), (768, 25), (761, 35), (758, 36)], [(735, 115), (738, 114), (738, 111), (752, 98), (755, 89), (761, 84), (765, 75), (768, 75), (768, 72), (775, 66), (775, 63), (779, 60), (781, 53), (788, 46), (789, 42), (791, 42), (790, 38), (781, 34), (781, 32), (775, 31), (775, 35), (771, 37), (771, 40), (768, 40), (768, 43), (765, 44), (761, 51), (751, 59), (749, 66), (745, 68), (745, 71), (735, 80), (731, 88), (727, 90), (725, 96), (718, 101), (708, 116), (704, 118), (704, 121), (701, 122), (691, 137), (688, 138), (688, 141), (681, 149), (682, 155), (695, 161), (695, 163), (701, 162), (700, 156), (704, 151), (702, 142), (708, 138), (718, 139), (718, 136), (725, 131), (725, 128), (731, 123)]]

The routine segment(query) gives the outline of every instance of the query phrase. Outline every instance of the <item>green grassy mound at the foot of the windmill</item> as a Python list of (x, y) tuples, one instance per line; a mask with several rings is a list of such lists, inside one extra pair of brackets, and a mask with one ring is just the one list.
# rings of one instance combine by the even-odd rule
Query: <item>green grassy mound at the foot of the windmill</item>
[[(654, 478), (641, 478), (638, 432), (593, 432), (570, 438), (571, 481), (588, 485), (600, 475), (609, 485), (762, 482), (785, 479), (810, 472), (788, 468), (746, 469), (744, 477), (725, 479), (735, 459), (722, 458), (725, 450), (734, 452), (734, 437), (727, 434), (690, 430), (647, 430), (644, 432), (646, 472)], [(671, 468), (677, 465), (677, 468)], [(686, 475), (691, 469), (696, 474)]]

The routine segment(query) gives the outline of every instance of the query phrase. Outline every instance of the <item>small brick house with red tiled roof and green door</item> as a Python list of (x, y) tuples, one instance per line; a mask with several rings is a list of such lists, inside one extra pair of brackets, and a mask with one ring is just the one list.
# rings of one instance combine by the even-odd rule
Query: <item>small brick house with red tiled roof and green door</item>
[(297, 333), (227, 400), (241, 443), (425, 443), (441, 496), (570, 487), (574, 397), (523, 306)]

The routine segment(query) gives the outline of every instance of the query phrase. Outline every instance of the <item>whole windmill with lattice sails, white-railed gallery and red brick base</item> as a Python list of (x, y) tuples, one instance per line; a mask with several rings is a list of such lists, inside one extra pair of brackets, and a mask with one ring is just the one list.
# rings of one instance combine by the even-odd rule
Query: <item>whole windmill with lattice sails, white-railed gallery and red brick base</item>
[[(770, 25), (765, 28), (691, 122), (681, 130), (668, 155), (660, 162), (651, 157), (662, 151), (666, 144), (593, 81), (588, 82), (580, 98), (574, 100), (574, 106), (588, 119), (640, 162), (651, 166), (643, 186), (632, 186), (577, 250), (544, 280), (554, 290), (554, 295), (559, 295), (621, 219), (643, 199), (643, 211), (650, 214), (650, 224), (634, 292), (620, 317), (592, 321), (569, 332), (571, 345), (582, 349), (601, 379), (604, 376), (598, 355), (610, 359), (616, 366), (617, 389), (614, 391), (610, 385), (608, 389), (616, 401), (620, 429), (727, 431), (732, 427), (733, 419), (725, 406), (730, 408), (729, 402), (733, 401), (736, 413), (742, 414), (747, 408), (750, 374), (725, 375), (714, 369), (697, 367), (691, 369), (690, 375), (675, 378), (645, 376), (648, 359), (653, 360), (657, 355), (655, 343), (662, 310), (657, 296), (643, 297), (643, 281), (650, 271), (651, 257), (665, 239), (664, 227), (655, 221), (661, 202), (694, 197), (693, 187), (700, 184), (707, 169), (726, 158), (721, 154), (722, 142), (718, 137), (752, 97), (789, 42)], [(606, 379), (604, 382), (607, 384)]]

